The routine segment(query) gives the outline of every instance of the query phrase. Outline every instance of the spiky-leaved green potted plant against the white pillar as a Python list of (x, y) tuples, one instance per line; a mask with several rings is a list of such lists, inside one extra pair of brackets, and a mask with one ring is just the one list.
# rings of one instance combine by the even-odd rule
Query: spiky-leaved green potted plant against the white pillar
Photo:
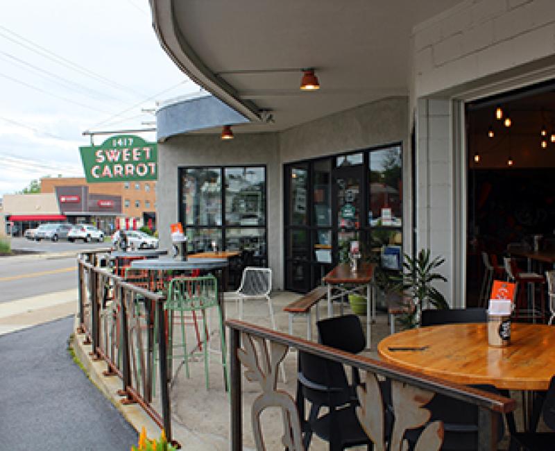
[(416, 327), (420, 322), (420, 311), (423, 307), (433, 305), (436, 309), (448, 309), (449, 304), (434, 282), (447, 279), (435, 270), (445, 262), (443, 257), (430, 257), (429, 249), (420, 249), (416, 257), (404, 255), (404, 273), (393, 276), (396, 287), (409, 294), (413, 302), (412, 312), (401, 318), (404, 327)]

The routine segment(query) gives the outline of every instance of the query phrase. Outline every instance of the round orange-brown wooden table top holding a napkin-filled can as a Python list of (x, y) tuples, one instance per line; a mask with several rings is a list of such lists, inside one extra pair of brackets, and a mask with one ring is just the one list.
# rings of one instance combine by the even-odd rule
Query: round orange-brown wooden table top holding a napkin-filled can
[[(486, 324), (420, 327), (390, 335), (377, 351), (386, 361), (459, 384), (547, 390), (555, 374), (555, 327), (513, 323), (511, 344), (488, 346)], [(426, 347), (390, 350), (391, 347)]]

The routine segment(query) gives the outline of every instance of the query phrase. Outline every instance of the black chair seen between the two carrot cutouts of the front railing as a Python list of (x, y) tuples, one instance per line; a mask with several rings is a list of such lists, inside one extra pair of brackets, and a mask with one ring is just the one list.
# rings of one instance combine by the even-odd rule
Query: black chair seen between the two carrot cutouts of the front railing
[[(305, 400), (311, 404), (308, 419), (305, 419)], [(372, 449), (372, 442), (355, 413), (357, 400), (339, 362), (299, 351), (296, 402), (305, 449), (309, 448), (312, 434), (330, 443), (330, 451), (359, 445)], [(329, 410), (318, 417), (322, 407)]]

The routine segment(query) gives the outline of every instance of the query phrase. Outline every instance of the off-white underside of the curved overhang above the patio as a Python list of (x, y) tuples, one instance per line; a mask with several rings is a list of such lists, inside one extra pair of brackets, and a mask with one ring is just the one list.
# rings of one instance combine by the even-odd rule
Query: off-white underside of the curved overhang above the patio
[[(273, 110), (274, 124), (241, 126), (244, 131), (266, 131), (284, 130), (384, 97), (407, 95), (413, 26), (461, 0), (152, 3), (162, 45), (178, 65), (234, 108), (244, 103)], [(157, 13), (163, 3), (167, 10), (173, 8), (178, 31)], [(189, 60), (179, 56), (168, 33), (177, 36), (180, 51)], [(279, 71), (302, 67), (316, 68), (321, 90), (302, 92), (298, 89), (300, 71)], [(253, 70), (267, 72), (218, 75)], [(222, 96), (218, 85), (230, 96)]]

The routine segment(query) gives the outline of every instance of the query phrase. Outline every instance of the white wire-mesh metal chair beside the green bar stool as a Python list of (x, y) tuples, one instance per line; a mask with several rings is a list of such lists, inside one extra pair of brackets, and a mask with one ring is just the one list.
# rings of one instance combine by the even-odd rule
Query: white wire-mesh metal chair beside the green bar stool
[[(225, 300), (235, 300), (235, 305), (239, 309), (239, 319), (243, 319), (244, 300), (265, 298), (268, 303), (272, 329), (276, 330), (270, 291), (272, 291), (272, 270), (269, 268), (247, 266), (243, 270), (243, 277), (237, 291), (226, 292), (224, 296)], [(283, 365), (281, 365), (281, 371), (282, 379), (285, 381)]]

